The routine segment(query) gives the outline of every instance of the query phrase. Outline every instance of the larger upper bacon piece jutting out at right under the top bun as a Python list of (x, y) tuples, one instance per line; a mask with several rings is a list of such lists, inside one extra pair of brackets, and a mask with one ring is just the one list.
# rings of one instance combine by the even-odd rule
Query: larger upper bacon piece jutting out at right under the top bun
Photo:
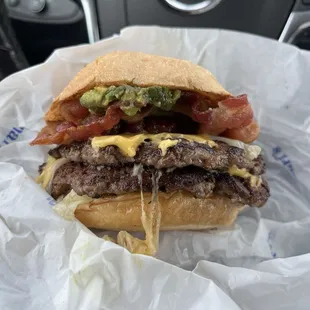
[(218, 103), (218, 108), (200, 109), (200, 102), (192, 103), (193, 118), (201, 123), (199, 132), (218, 135), (227, 129), (249, 125), (253, 119), (253, 110), (246, 95), (230, 97)]

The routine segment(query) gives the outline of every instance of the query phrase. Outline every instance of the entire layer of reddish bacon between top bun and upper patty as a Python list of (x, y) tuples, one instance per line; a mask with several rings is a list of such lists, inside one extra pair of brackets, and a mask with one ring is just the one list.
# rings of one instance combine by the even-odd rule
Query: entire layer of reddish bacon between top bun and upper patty
[[(199, 123), (201, 134), (223, 135), (249, 142), (255, 140), (259, 133), (259, 126), (253, 120), (253, 111), (246, 95), (211, 103), (197, 94), (188, 92), (178, 100), (173, 111), (189, 116), (195, 124)], [(61, 113), (66, 121), (48, 124), (31, 144), (67, 144), (72, 141), (84, 141), (106, 133), (119, 124), (120, 120), (128, 124), (129, 132), (137, 132), (140, 128), (152, 133), (180, 132), (180, 128), (184, 127), (183, 123), (180, 127), (170, 120), (171, 124), (162, 119), (156, 119), (155, 122), (153, 118), (147, 117), (151, 112), (152, 107), (149, 106), (130, 117), (120, 109), (119, 102), (114, 102), (108, 107), (105, 115), (94, 115), (89, 114), (78, 100), (71, 101), (61, 106)], [(184, 127), (184, 132), (188, 132), (187, 127)], [(196, 132), (195, 129), (193, 133)]]

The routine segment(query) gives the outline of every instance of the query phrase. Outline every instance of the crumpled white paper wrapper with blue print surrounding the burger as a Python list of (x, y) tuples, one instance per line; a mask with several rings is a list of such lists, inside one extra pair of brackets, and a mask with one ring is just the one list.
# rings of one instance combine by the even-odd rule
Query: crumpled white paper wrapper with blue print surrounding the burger
[[(52, 98), (86, 63), (113, 50), (188, 59), (233, 94), (249, 95), (262, 127), (266, 207), (245, 210), (230, 230), (161, 233), (159, 260), (131, 255), (52, 211), (54, 200), (32, 180), (48, 148), (28, 143)], [(132, 27), (58, 50), (2, 81), (0, 309), (308, 310), (309, 76), (309, 52), (268, 39)]]

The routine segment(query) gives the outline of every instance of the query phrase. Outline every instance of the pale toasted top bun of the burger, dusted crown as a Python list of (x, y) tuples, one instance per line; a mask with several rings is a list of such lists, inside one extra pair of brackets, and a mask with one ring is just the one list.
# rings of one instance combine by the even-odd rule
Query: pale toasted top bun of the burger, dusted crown
[(189, 61), (139, 52), (116, 51), (99, 57), (84, 67), (55, 99), (45, 115), (45, 120), (63, 120), (60, 105), (79, 98), (95, 86), (122, 84), (140, 87), (158, 85), (194, 91), (212, 101), (230, 96), (208, 70)]

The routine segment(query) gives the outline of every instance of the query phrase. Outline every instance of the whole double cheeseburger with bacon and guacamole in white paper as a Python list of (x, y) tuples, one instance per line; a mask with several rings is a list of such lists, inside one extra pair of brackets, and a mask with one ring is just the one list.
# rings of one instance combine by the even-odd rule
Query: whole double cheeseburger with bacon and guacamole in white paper
[[(154, 255), (159, 230), (229, 226), (269, 197), (259, 126), (188, 61), (112, 52), (84, 67), (54, 100), (32, 145), (56, 144), (38, 182), (56, 210)], [(127, 231), (145, 231), (145, 240)]]

